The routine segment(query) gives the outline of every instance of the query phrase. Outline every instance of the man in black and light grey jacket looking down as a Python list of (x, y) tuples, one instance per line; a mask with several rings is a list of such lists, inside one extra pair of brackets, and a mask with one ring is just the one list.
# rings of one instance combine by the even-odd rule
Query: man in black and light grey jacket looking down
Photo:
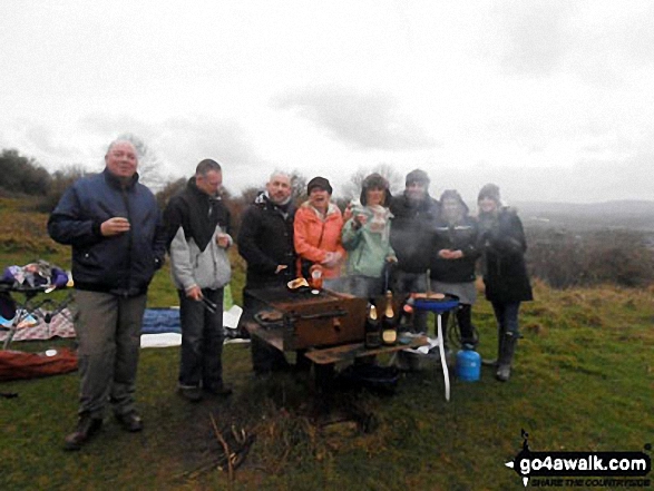
[(173, 283), (179, 295), (182, 354), (179, 393), (199, 401), (204, 393), (230, 395), (223, 383), (223, 287), (232, 268), (227, 248), (230, 212), (218, 190), (218, 163), (202, 160), (186, 187), (168, 202), (164, 220)]

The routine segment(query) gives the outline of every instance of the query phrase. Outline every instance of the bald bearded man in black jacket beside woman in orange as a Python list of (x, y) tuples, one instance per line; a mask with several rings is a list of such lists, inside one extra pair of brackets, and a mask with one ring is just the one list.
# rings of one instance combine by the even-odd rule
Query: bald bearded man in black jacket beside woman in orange
[[(291, 178), (286, 174), (274, 173), (265, 192), (243, 214), (237, 238), (238, 253), (247, 262), (242, 322), (252, 321), (263, 306), (250, 295), (252, 289), (284, 285), (295, 277), (295, 207), (291, 193)], [(251, 346), (252, 365), (256, 373), (265, 374), (287, 366), (280, 351), (256, 336), (253, 336)]]

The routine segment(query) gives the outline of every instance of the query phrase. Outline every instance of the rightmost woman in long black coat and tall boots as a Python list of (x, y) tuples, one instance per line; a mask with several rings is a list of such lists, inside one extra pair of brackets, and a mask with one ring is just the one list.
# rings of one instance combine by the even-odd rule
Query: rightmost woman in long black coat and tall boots
[(534, 299), (525, 265), (527, 242), (516, 212), (501, 206), (499, 187), (484, 186), (477, 203), (486, 298), (492, 304), (498, 325), (496, 379), (506, 382), (520, 336), (520, 302)]

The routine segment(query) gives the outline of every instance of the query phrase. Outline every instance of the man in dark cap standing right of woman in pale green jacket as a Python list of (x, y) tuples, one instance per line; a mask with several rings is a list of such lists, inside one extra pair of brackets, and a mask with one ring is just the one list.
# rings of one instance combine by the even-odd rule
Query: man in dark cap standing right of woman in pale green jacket
[[(427, 291), (427, 268), (433, 226), (440, 205), (429, 196), (429, 176), (421, 169), (407, 175), (404, 193), (390, 206), (391, 245), (398, 257), (397, 288), (401, 293)], [(416, 312), (413, 330), (427, 332), (427, 313)]]

